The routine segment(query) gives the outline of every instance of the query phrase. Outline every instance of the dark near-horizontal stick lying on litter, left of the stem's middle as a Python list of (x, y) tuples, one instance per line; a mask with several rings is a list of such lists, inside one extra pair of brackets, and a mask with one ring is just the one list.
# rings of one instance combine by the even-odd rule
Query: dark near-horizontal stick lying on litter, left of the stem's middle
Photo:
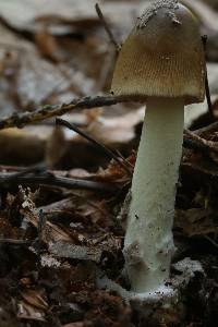
[(38, 185), (53, 185), (58, 187), (64, 187), (69, 190), (89, 190), (96, 192), (112, 193), (117, 187), (109, 185), (108, 183), (87, 181), (81, 179), (69, 179), (55, 177), (52, 174), (45, 175), (23, 175), (15, 177), (13, 180), (10, 178), (11, 173), (0, 173), (0, 186), (14, 185), (14, 184), (36, 184)]

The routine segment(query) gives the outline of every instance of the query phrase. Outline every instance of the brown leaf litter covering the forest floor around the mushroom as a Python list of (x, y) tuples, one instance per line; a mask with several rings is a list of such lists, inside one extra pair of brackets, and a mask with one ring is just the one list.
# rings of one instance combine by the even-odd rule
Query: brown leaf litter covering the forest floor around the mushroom
[[(99, 3), (120, 44), (149, 2)], [(198, 259), (206, 274), (190, 286), (185, 326), (209, 327), (218, 305), (218, 11), (213, 1), (184, 3), (208, 34), (214, 121), (206, 102), (186, 109), (192, 133), (184, 132), (173, 232), (175, 255)], [(116, 49), (94, 1), (1, 1), (0, 17), (1, 117), (108, 92)], [(63, 118), (133, 171), (143, 111), (117, 104)], [(122, 246), (130, 174), (53, 119), (2, 130), (0, 144), (0, 326), (141, 326), (119, 294), (97, 283), (100, 271), (126, 287)]]

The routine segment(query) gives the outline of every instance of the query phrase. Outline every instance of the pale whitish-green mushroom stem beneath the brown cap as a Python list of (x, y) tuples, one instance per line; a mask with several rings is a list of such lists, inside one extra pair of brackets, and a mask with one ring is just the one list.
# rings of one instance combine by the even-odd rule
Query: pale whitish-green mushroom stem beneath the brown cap
[(184, 124), (183, 99), (148, 98), (146, 107), (124, 241), (134, 292), (155, 292), (169, 278)]

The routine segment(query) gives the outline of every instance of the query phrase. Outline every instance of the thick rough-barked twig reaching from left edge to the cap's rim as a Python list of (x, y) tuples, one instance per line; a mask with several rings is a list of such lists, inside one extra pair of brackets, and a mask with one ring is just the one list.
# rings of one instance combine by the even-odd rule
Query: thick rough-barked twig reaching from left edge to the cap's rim
[(123, 99), (114, 96), (95, 96), (75, 99), (63, 105), (47, 105), (38, 110), (24, 113), (15, 113), (0, 120), (0, 130), (9, 128), (23, 128), (27, 124), (33, 124), (45, 119), (62, 116), (73, 109), (92, 109), (102, 106), (112, 106), (123, 102)]

